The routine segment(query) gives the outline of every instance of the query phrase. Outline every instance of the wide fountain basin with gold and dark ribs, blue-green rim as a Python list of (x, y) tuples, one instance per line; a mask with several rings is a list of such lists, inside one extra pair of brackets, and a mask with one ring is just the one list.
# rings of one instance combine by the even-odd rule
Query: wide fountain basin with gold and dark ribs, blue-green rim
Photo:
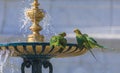
[(17, 42), (0, 44), (0, 49), (12, 51), (12, 56), (30, 57), (30, 58), (63, 58), (79, 56), (87, 52), (87, 49), (79, 49), (76, 44), (68, 43), (62, 52), (60, 47), (51, 48), (48, 42)]

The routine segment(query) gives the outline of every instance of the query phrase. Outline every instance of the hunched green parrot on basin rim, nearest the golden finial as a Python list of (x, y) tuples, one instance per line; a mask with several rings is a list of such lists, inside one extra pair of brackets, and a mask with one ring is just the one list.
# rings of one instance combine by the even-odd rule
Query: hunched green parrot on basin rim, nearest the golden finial
[(57, 36), (52, 36), (50, 39), (50, 47), (54, 48), (55, 46), (60, 47), (59, 52), (61, 53), (67, 45), (67, 40), (65, 39), (66, 33), (60, 33)]

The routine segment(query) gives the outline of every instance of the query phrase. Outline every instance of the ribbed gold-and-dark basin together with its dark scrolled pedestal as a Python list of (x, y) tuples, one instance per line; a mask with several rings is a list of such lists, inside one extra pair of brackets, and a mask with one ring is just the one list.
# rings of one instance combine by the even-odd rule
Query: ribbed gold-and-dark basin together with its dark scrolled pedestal
[(25, 67), (32, 67), (32, 73), (42, 73), (42, 66), (49, 68), (53, 73), (53, 66), (49, 59), (79, 56), (87, 52), (86, 48), (78, 48), (76, 44), (68, 43), (60, 52), (60, 47), (50, 47), (48, 42), (17, 42), (0, 44), (0, 50), (9, 50), (12, 57), (23, 58), (21, 73), (25, 73)]

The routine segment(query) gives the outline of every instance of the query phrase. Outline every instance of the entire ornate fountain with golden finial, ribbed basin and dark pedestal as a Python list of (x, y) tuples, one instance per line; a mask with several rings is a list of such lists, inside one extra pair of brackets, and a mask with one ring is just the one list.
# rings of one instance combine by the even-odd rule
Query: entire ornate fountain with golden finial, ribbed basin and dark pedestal
[(30, 27), (32, 34), (28, 36), (27, 42), (0, 44), (1, 50), (9, 50), (13, 57), (23, 58), (21, 73), (25, 73), (25, 68), (30, 67), (32, 73), (42, 73), (42, 67), (49, 68), (49, 73), (53, 73), (53, 67), (49, 61), (51, 58), (74, 57), (88, 51), (71, 43), (67, 43), (62, 52), (59, 52), (60, 47), (51, 48), (49, 42), (45, 42), (44, 36), (39, 33), (42, 30), (39, 22), (44, 18), (45, 13), (38, 6), (38, 0), (34, 0), (32, 8), (25, 12), (33, 24)]

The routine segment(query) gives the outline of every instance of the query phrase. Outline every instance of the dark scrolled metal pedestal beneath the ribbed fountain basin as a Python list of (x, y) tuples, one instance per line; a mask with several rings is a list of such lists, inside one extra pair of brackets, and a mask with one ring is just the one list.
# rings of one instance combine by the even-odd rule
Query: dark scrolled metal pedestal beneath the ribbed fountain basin
[(21, 73), (25, 73), (25, 67), (31, 67), (32, 73), (42, 73), (42, 67), (49, 68), (49, 73), (53, 73), (53, 67), (49, 59), (24, 57), (21, 65)]

